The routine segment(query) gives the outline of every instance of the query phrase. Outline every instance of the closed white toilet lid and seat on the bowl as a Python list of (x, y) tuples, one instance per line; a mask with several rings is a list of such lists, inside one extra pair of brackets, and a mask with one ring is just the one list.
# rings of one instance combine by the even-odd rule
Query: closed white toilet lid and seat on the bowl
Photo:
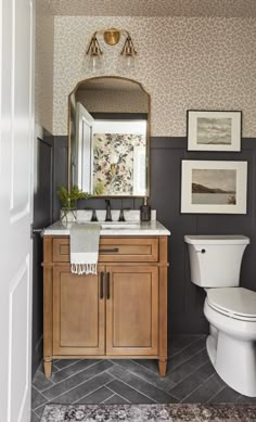
[(207, 302), (231, 318), (256, 321), (256, 292), (243, 287), (209, 289)]

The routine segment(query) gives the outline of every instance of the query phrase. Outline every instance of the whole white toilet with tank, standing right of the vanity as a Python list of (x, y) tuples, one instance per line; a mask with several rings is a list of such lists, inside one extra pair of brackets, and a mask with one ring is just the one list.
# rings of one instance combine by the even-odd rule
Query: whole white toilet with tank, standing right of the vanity
[(206, 348), (221, 379), (256, 397), (256, 292), (239, 287), (244, 235), (185, 235), (191, 281), (206, 291)]

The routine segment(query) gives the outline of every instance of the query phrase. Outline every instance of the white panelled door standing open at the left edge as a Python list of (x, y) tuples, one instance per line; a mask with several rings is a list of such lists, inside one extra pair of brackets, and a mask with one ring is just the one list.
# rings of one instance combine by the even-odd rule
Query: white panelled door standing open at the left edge
[(0, 419), (28, 422), (34, 0), (1, 0), (0, 42)]

